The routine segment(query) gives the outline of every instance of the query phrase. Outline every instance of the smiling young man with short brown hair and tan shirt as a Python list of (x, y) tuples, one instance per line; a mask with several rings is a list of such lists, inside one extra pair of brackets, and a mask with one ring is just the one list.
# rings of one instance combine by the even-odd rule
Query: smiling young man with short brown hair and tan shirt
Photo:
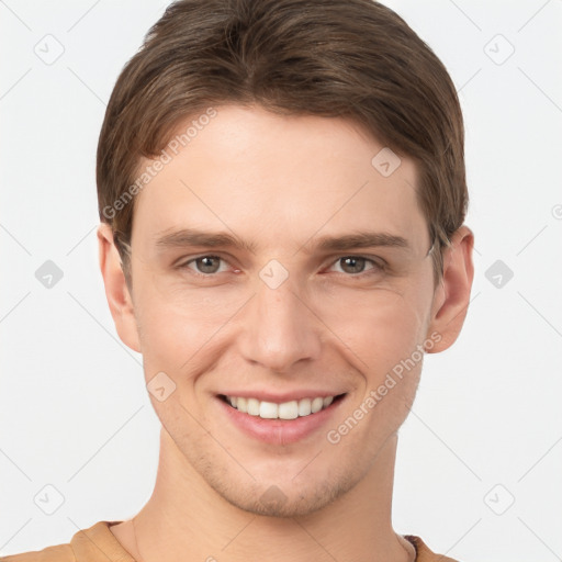
[(121, 74), (100, 266), (161, 422), (131, 520), (1, 560), (395, 561), (397, 431), (473, 279), (463, 125), (370, 0), (187, 0)]

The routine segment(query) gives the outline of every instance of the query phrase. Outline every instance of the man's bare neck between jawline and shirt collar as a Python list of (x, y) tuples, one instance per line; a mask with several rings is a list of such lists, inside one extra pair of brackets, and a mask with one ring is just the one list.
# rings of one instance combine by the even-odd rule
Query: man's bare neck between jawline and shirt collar
[(393, 435), (359, 484), (331, 504), (304, 516), (279, 518), (226, 502), (162, 429), (153, 495), (132, 528), (112, 531), (139, 562), (408, 562), (415, 550), (391, 524), (396, 445)]

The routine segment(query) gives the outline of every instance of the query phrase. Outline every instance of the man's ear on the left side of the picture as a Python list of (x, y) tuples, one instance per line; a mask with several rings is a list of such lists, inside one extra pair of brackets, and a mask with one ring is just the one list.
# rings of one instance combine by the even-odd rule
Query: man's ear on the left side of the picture
[(121, 257), (115, 247), (110, 225), (100, 224), (98, 227), (98, 243), (105, 296), (119, 337), (131, 349), (140, 352), (133, 299), (121, 268)]

